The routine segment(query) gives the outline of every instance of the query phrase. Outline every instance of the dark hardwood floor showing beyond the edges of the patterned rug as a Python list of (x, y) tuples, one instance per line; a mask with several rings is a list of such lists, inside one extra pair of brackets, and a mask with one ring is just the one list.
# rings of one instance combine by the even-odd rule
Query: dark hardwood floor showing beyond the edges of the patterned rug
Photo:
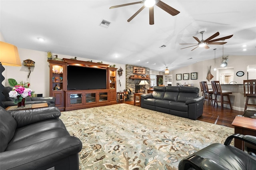
[[(125, 103), (133, 105), (133, 101), (125, 101)], [(216, 107), (216, 105), (213, 108), (212, 105), (208, 106), (207, 103), (205, 102), (203, 115), (199, 117), (197, 120), (234, 128), (231, 125), (231, 123), (235, 119), (236, 115), (243, 114), (244, 112), (242, 111), (231, 110), (225, 107), (223, 110), (221, 110), (220, 106)]]

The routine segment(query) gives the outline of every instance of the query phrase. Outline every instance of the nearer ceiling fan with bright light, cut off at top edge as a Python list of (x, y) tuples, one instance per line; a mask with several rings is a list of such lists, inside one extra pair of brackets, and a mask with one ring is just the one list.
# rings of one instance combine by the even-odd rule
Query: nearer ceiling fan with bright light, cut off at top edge
[(133, 16), (131, 16), (127, 22), (130, 22), (136, 15), (138, 15), (145, 7), (149, 7), (149, 24), (153, 25), (154, 24), (154, 5), (158, 6), (159, 8), (162, 8), (162, 10), (168, 12), (172, 16), (175, 16), (179, 14), (180, 12), (171, 6), (165, 4), (164, 2), (160, 0), (142, 0), (140, 2), (132, 2), (128, 4), (122, 4), (122, 5), (116, 5), (116, 6), (111, 6), (109, 9), (112, 8), (118, 8), (122, 6), (128, 6), (128, 5), (134, 5), (134, 4), (144, 4)]

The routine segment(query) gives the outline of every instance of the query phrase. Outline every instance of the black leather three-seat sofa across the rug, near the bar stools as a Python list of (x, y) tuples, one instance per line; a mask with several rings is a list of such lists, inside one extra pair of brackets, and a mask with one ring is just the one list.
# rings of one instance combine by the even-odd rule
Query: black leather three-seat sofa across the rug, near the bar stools
[(141, 95), (140, 106), (196, 120), (203, 114), (204, 97), (198, 87), (155, 86), (153, 93)]

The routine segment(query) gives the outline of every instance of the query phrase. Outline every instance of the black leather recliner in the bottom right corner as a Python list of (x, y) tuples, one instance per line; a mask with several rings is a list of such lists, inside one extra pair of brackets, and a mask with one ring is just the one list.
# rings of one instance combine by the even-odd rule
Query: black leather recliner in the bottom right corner
[(187, 156), (179, 163), (179, 170), (255, 170), (255, 154), (248, 154), (230, 146), (233, 138), (238, 138), (256, 146), (256, 136), (233, 134), (224, 144), (214, 143)]

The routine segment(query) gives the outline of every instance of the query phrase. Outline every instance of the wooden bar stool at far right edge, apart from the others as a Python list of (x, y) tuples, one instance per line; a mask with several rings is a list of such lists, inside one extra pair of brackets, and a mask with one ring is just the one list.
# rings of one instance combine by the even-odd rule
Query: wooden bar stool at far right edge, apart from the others
[(256, 99), (256, 79), (244, 80), (244, 97), (246, 97), (244, 111), (246, 111), (247, 106), (256, 107), (256, 104), (248, 104), (249, 99)]

